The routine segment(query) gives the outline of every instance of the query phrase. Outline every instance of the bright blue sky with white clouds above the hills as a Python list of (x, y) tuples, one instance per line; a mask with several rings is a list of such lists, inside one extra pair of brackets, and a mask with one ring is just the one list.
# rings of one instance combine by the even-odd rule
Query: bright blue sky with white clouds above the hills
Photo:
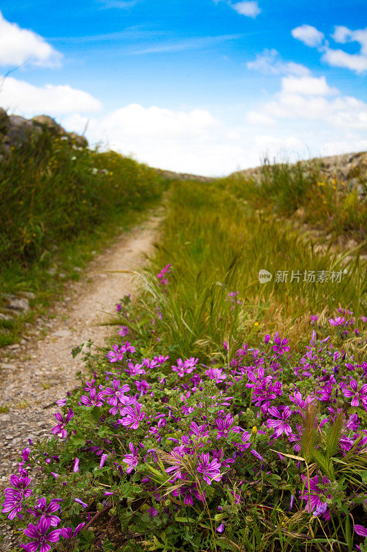
[(2, 1), (0, 105), (139, 161), (224, 175), (367, 149), (359, 0)]

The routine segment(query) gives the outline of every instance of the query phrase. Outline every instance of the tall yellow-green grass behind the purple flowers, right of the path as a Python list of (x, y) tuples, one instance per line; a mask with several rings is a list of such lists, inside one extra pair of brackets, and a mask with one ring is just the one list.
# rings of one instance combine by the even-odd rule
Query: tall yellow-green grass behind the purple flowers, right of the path
[[(167, 297), (161, 299), (147, 279), (144, 308), (154, 317), (160, 302), (162, 341), (182, 357), (202, 358), (218, 350), (222, 339), (240, 346), (244, 337), (273, 331), (294, 345), (311, 314), (326, 319), (338, 307), (356, 317), (365, 311), (366, 262), (358, 253), (346, 259), (330, 249), (317, 252), (282, 219), (243, 204), (216, 183), (173, 186), (154, 270), (167, 263), (173, 266)], [(272, 273), (271, 282), (260, 284), (261, 269)], [(300, 273), (300, 282), (276, 281), (277, 271), (288, 271), (290, 280), (292, 270)], [(305, 271), (314, 271), (316, 279), (321, 271), (329, 276), (342, 271), (341, 281), (304, 282)], [(233, 291), (240, 305), (229, 300)]]

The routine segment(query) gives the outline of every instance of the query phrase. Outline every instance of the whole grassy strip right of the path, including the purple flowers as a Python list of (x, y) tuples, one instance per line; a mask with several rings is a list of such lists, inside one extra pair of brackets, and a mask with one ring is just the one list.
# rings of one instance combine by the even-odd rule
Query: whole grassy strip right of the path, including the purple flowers
[(255, 203), (172, 186), (140, 299), (23, 449), (21, 485), (24, 463), (43, 478), (3, 515), (27, 543), (38, 522), (62, 551), (366, 549), (366, 262)]

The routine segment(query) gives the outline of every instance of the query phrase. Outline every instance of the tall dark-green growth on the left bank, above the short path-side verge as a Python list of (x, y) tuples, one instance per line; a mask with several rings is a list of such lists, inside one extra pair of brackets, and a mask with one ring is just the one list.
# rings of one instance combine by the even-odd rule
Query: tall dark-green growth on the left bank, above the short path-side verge
[(161, 189), (147, 166), (77, 148), (44, 130), (0, 164), (0, 262), (33, 262), (116, 211), (142, 208)]

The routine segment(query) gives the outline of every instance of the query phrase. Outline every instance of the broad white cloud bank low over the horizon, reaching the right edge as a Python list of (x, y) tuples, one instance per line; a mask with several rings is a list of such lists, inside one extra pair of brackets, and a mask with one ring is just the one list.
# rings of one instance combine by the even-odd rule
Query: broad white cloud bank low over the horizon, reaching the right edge
[(297, 161), (323, 155), (322, 148), (331, 154), (333, 148), (358, 149), (366, 141), (361, 135), (367, 130), (366, 103), (337, 94), (324, 77), (307, 78), (284, 77), (271, 101), (248, 112), (238, 108), (233, 122), (205, 109), (132, 103), (101, 117), (70, 115), (63, 125), (82, 132), (89, 121), (90, 144), (103, 138), (106, 149), (133, 153), (150, 166), (199, 175), (258, 166), (264, 155)]

